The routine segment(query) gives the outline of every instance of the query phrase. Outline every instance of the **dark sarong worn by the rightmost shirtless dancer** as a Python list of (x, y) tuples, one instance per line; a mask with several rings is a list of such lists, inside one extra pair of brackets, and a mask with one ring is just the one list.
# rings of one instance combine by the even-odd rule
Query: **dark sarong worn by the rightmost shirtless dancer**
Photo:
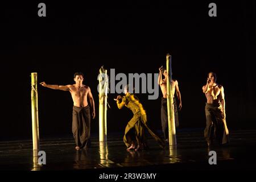
[(213, 139), (216, 139), (219, 144), (229, 143), (229, 131), (221, 109), (221, 104), (205, 103), (206, 127), (204, 137), (207, 142), (211, 143)]

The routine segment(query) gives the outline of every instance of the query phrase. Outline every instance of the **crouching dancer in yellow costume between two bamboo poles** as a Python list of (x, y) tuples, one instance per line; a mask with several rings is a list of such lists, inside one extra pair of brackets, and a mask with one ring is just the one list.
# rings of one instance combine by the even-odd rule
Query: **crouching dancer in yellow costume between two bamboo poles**
[[(164, 141), (160, 139), (148, 126), (147, 126), (147, 115), (138, 97), (132, 93), (129, 93), (129, 85), (125, 86), (125, 96), (117, 96), (115, 101), (117, 101), (118, 109), (122, 109), (126, 106), (131, 111), (133, 111), (133, 118), (127, 123), (125, 128), (125, 136), (123, 137), (123, 142), (127, 146), (127, 151), (129, 150), (139, 150), (146, 147), (146, 137), (144, 134), (144, 129), (148, 130), (148, 133), (159, 143), (163, 148)], [(136, 147), (137, 144), (137, 147)]]

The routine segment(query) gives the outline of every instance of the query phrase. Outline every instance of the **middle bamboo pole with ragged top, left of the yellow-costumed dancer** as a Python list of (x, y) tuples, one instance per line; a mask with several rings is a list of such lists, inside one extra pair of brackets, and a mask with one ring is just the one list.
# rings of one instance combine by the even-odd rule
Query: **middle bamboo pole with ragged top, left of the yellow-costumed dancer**
[(106, 113), (107, 113), (107, 94), (109, 88), (109, 78), (107, 70), (100, 68), (100, 75), (98, 76), (99, 81), (99, 137), (100, 142), (106, 142), (107, 140), (107, 124), (106, 124)]

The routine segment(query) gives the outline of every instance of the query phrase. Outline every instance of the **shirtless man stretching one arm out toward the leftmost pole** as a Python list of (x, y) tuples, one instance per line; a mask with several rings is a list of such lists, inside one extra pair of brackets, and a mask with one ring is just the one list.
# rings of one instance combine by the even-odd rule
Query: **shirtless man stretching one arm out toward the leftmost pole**
[(74, 81), (76, 84), (73, 85), (49, 85), (46, 82), (41, 82), (40, 84), (50, 89), (69, 91), (71, 93), (73, 99), (72, 133), (76, 142), (76, 150), (80, 150), (80, 148), (90, 146), (90, 109), (87, 97), (93, 109), (93, 119), (95, 118), (95, 108), (89, 86), (82, 84), (84, 74), (76, 72)]

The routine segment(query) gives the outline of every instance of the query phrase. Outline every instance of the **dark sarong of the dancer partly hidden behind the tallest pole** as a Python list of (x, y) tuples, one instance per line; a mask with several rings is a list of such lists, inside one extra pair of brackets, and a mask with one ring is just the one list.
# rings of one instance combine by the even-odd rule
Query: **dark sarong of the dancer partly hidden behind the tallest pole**
[[(179, 118), (178, 118), (178, 111), (177, 111), (177, 102), (176, 98), (174, 97), (174, 119), (175, 119), (175, 126), (179, 127)], [(161, 121), (162, 121), (162, 131), (164, 134), (164, 139), (168, 139), (168, 111), (167, 111), (167, 98), (162, 97), (161, 103)]]

